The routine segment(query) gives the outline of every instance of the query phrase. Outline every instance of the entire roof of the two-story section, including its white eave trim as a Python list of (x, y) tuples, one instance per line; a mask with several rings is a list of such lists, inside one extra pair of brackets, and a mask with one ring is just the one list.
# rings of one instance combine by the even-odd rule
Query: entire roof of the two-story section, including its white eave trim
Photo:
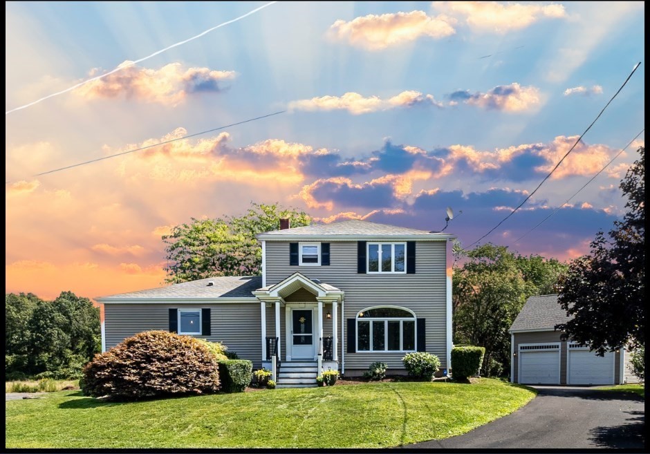
[(409, 229), (408, 227), (398, 227), (396, 225), (387, 225), (371, 223), (367, 220), (344, 220), (339, 223), (331, 224), (314, 224), (306, 227), (294, 227), (293, 229), (272, 230), (259, 234), (260, 240), (288, 240), (293, 238), (314, 239), (314, 238), (358, 238), (361, 236), (373, 236), (381, 238), (431, 238), (436, 240), (446, 240), (454, 238), (453, 235), (442, 234), (439, 232), (430, 233), (427, 230)]

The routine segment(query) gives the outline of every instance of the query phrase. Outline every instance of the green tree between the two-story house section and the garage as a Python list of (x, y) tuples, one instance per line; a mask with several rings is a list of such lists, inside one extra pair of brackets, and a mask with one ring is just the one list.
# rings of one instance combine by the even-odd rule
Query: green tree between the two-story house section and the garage
[(454, 343), (485, 348), (481, 374), (510, 367), (510, 325), (529, 296), (553, 292), (566, 265), (541, 256), (519, 256), (508, 247), (477, 246), (454, 267)]

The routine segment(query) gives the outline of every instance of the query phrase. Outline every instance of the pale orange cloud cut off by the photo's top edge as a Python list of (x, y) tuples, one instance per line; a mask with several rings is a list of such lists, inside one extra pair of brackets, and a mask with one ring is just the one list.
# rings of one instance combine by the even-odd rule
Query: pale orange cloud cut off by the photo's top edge
[(435, 1), (437, 10), (454, 17), (464, 17), (467, 26), (476, 32), (505, 33), (526, 28), (541, 18), (566, 17), (564, 6), (498, 3), (496, 1)]

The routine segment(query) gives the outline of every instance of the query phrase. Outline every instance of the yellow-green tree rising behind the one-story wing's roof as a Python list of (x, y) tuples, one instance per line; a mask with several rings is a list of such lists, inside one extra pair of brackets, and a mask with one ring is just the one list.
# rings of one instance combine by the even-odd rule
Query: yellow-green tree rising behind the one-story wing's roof
[(277, 230), (287, 218), (291, 227), (309, 225), (304, 211), (251, 203), (243, 216), (216, 219), (192, 218), (163, 236), (169, 283), (194, 281), (212, 276), (253, 276), (261, 274), (262, 253), (255, 236)]

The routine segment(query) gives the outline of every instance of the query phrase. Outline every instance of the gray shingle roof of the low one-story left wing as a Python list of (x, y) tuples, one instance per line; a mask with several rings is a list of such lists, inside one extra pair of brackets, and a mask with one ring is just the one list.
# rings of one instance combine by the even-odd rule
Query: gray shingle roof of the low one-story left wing
[[(213, 282), (213, 285), (207, 285), (210, 281)], [(102, 296), (97, 301), (140, 298), (254, 298), (252, 292), (261, 286), (262, 276), (220, 276), (167, 285), (167, 287)]]

